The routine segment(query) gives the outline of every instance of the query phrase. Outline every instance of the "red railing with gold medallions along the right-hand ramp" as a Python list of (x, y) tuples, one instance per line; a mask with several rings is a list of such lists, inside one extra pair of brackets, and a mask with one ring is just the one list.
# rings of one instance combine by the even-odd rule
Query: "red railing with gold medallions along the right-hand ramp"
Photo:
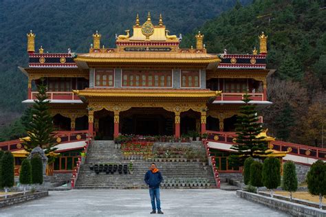
[[(233, 139), (235, 139), (236, 134), (234, 132), (215, 132), (208, 130), (207, 133), (208, 141), (223, 142), (230, 145), (235, 144)], [(326, 148), (316, 148), (285, 141), (271, 141), (270, 148), (273, 150), (287, 151), (290, 155), (326, 160)]]

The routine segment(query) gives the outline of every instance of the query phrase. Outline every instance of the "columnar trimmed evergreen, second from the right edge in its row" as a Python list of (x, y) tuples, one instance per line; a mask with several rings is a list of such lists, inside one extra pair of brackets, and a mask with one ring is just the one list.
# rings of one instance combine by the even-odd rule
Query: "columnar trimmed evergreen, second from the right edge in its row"
[(292, 192), (298, 190), (296, 165), (292, 161), (287, 161), (283, 165), (283, 190), (290, 192), (290, 201), (292, 201)]

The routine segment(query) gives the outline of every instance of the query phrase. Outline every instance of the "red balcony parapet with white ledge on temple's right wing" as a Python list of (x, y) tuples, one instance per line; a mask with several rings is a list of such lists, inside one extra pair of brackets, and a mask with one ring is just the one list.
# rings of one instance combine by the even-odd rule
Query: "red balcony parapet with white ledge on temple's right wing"
[[(213, 104), (243, 104), (243, 95), (246, 93), (221, 93)], [(272, 104), (265, 100), (264, 93), (248, 93), (254, 104)]]

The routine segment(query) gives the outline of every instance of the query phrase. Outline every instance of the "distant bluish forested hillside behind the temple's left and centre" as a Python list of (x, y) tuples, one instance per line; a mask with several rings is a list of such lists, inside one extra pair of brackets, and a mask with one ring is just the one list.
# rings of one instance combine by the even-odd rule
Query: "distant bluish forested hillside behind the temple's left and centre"
[[(242, 0), (247, 3), (250, 0)], [(27, 78), (17, 69), (28, 64), (26, 33), (36, 33), (36, 49), (45, 52), (87, 52), (98, 30), (102, 44), (113, 46), (115, 34), (124, 34), (137, 13), (143, 23), (150, 11), (153, 23), (162, 13), (171, 34), (185, 34), (208, 19), (232, 8), (236, 0), (183, 1), (1, 1), (0, 5), (0, 111), (22, 111)]]

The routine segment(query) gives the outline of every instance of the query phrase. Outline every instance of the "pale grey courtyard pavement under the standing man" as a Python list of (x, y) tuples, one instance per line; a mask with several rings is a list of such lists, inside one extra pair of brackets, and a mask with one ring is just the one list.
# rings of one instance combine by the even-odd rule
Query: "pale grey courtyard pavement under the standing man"
[[(70, 190), (5, 209), (0, 216), (157, 216), (148, 190)], [(224, 190), (161, 190), (164, 215), (287, 216)]]

